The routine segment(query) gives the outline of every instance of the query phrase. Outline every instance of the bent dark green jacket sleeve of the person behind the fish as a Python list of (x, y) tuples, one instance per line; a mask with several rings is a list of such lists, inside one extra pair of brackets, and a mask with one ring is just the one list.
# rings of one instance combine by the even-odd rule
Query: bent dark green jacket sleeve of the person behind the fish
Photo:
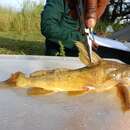
[[(80, 32), (65, 28), (60, 24), (64, 16), (63, 0), (47, 0), (44, 11), (41, 14), (41, 32), (48, 39), (58, 41), (80, 41)], [(64, 42), (65, 43), (65, 42)], [(70, 42), (68, 42), (70, 44)]]

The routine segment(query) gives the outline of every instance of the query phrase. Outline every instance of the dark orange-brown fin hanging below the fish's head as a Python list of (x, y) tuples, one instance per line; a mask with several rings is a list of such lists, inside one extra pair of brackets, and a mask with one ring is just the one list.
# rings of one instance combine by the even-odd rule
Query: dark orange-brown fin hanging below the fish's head
[(122, 101), (123, 110), (128, 111), (130, 110), (130, 90), (129, 86), (125, 86), (124, 84), (117, 85), (120, 98)]

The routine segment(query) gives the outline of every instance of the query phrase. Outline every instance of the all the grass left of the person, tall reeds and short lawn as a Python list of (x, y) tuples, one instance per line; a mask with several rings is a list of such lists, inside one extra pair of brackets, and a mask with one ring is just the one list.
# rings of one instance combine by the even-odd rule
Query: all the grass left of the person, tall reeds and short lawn
[(0, 54), (44, 54), (45, 38), (40, 34), (42, 3), (24, 0), (21, 11), (0, 7)]

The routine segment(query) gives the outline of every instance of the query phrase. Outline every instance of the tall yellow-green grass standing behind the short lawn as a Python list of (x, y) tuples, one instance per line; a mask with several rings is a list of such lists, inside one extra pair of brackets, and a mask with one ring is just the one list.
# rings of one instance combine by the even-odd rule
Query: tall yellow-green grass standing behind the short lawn
[(24, 0), (20, 11), (0, 6), (0, 31), (39, 32), (42, 1), (37, 5), (36, 2)]

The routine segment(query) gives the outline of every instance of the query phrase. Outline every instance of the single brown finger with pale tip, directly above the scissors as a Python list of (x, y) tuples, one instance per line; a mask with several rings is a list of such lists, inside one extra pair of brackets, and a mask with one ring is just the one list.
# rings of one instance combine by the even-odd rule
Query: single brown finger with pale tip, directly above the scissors
[(85, 6), (86, 6), (86, 15), (85, 15), (85, 24), (88, 28), (93, 28), (96, 24), (97, 19), (97, 0), (85, 0)]

